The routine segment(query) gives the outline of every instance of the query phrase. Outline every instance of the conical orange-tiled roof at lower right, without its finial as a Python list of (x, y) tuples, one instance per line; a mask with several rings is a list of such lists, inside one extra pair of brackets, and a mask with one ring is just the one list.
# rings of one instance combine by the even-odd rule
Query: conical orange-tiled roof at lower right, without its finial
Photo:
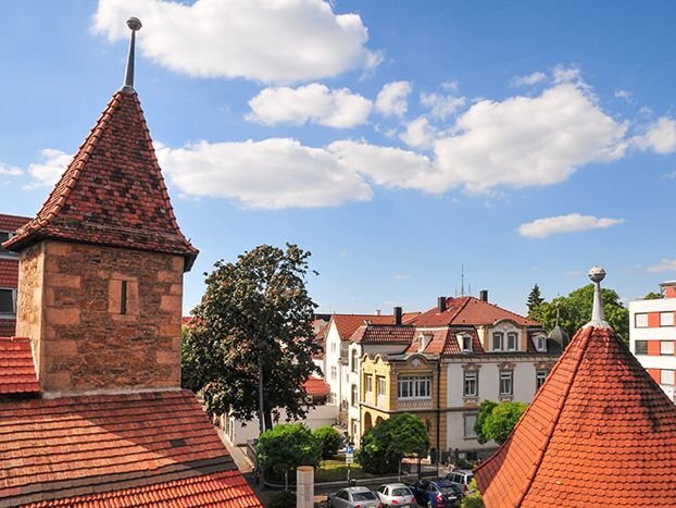
[(502, 447), (487, 507), (676, 506), (676, 406), (614, 331), (577, 332)]

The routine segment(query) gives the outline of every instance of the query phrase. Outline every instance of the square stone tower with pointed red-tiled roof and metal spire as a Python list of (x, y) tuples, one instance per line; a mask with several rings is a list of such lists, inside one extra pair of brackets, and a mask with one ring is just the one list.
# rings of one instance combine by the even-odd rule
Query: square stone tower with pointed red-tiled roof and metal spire
[(198, 250), (176, 223), (133, 54), (132, 79), (127, 69), (37, 216), (4, 244), (21, 252), (16, 335), (32, 338), (48, 393), (180, 385), (183, 273)]

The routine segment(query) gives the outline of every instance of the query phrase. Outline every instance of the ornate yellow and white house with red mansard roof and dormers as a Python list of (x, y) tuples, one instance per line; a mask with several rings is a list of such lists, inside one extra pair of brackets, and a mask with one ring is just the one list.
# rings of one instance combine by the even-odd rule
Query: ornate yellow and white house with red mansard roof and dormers
[[(366, 335), (377, 334), (370, 327)], [(487, 292), (439, 297), (414, 327), (392, 329), (399, 351), (362, 358), (362, 431), (412, 412), (425, 421), (433, 447), (467, 458), (496, 447), (476, 438), (480, 402), (530, 401), (564, 348), (537, 322), (488, 302)]]

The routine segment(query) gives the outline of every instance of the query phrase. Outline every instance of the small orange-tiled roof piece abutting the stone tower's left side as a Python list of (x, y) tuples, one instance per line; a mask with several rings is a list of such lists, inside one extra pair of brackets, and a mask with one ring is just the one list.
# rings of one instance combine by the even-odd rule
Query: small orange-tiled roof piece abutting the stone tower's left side
[(30, 339), (0, 337), (0, 396), (39, 392)]

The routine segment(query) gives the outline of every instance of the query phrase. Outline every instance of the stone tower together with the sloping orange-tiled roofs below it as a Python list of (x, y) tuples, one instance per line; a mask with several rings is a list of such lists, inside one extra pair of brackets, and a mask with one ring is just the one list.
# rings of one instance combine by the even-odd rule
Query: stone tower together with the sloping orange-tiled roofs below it
[(180, 389), (181, 234), (134, 89), (113, 95), (18, 252), (0, 338), (0, 506), (262, 506)]

